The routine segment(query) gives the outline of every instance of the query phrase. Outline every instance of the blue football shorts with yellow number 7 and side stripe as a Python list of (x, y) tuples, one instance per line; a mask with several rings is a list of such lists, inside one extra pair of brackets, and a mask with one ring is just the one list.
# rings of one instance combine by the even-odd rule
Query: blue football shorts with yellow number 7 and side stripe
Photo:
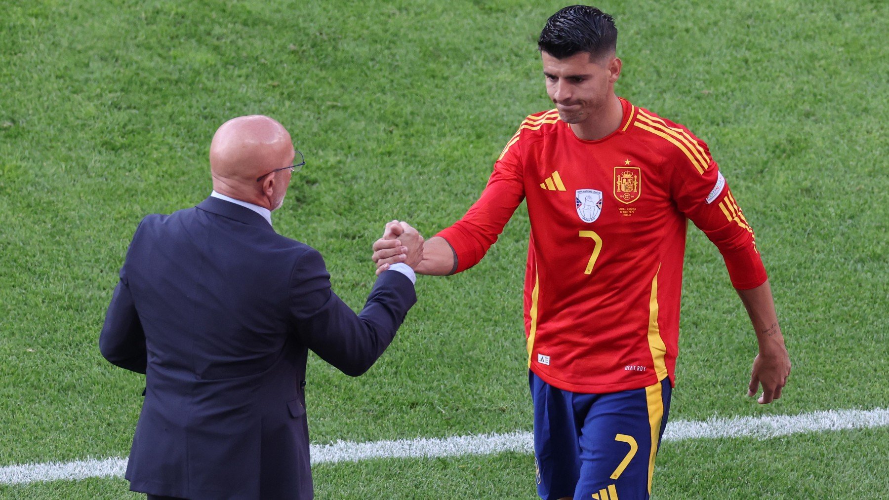
[(537, 494), (544, 500), (647, 499), (667, 425), (669, 378), (620, 393), (557, 389), (528, 371)]

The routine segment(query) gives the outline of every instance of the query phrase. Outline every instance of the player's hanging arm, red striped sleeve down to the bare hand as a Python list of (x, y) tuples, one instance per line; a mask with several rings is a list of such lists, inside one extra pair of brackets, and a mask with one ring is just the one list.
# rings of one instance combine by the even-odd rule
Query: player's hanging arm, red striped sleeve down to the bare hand
[(790, 359), (778, 324), (772, 289), (757, 250), (756, 235), (728, 187), (706, 144), (690, 131), (677, 126), (685, 139), (668, 172), (670, 191), (677, 207), (713, 242), (725, 259), (725, 267), (747, 309), (757, 334), (759, 353), (753, 361), (748, 395), (760, 385), (760, 404), (781, 397), (787, 384)]

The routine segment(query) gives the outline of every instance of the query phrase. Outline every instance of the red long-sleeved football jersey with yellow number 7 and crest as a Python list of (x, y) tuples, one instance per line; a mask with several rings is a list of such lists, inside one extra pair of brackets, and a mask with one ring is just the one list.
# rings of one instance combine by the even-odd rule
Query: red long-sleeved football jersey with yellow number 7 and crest
[(674, 382), (686, 218), (717, 244), (736, 288), (766, 279), (753, 231), (707, 145), (621, 104), (621, 125), (599, 140), (578, 139), (555, 109), (528, 116), (478, 201), (438, 234), (463, 271), (527, 199), (528, 366), (576, 393)]

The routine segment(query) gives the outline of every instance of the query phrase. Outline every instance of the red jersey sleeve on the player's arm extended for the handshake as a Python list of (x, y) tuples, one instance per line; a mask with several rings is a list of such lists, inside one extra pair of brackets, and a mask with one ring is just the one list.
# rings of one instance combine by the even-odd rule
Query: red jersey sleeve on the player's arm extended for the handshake
[(521, 129), (503, 148), (478, 201), (453, 226), (436, 234), (445, 238), (457, 256), (455, 273), (475, 266), (485, 257), (525, 199), (520, 134)]

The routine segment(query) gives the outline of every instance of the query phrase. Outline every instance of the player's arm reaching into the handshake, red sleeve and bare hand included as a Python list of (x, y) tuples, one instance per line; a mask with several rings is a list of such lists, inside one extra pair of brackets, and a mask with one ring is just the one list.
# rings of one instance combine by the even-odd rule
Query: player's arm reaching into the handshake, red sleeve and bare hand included
[[(503, 226), (525, 199), (521, 147), (519, 132), (516, 132), (494, 163), (493, 173), (477, 202), (453, 226), (423, 243), (423, 259), (415, 268), (417, 273), (459, 273), (485, 257)], [(378, 274), (407, 257), (404, 247), (396, 242), (399, 234), (396, 226), (388, 223), (386, 233), (373, 243), (372, 259)]]

